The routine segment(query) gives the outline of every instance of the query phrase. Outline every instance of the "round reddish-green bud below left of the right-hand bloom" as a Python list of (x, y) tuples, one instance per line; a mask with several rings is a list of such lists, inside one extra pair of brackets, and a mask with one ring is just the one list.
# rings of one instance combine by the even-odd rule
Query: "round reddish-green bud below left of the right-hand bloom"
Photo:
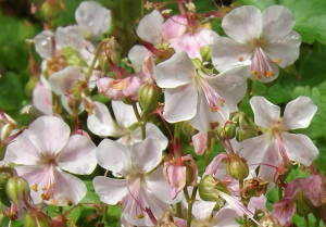
[(226, 159), (226, 173), (238, 180), (243, 180), (249, 175), (247, 161), (238, 155)]

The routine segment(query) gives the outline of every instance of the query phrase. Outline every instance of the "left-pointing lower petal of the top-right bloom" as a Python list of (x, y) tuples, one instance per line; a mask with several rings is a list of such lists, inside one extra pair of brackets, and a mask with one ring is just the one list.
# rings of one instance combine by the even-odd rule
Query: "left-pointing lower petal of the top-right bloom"
[(250, 60), (253, 50), (250, 46), (239, 43), (227, 37), (217, 37), (212, 46), (212, 61), (218, 71), (225, 71), (237, 63)]

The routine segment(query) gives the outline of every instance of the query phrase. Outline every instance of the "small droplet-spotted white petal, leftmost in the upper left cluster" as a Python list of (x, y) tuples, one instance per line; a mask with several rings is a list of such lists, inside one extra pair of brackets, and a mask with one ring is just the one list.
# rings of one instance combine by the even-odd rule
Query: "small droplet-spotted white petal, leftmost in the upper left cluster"
[(35, 49), (43, 59), (51, 59), (54, 35), (51, 30), (43, 30), (34, 38)]

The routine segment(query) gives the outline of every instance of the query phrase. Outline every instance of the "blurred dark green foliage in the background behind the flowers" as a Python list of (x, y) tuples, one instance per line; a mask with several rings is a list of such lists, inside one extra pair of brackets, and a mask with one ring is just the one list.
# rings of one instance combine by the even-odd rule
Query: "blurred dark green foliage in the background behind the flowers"
[[(64, 0), (65, 10), (50, 21), (52, 27), (74, 24), (74, 11), (82, 0)], [(195, 0), (199, 12), (218, 10), (217, 3), (222, 0)], [(30, 3), (41, 0), (0, 0), (0, 109), (23, 121), (20, 110), (30, 103), (30, 89), (27, 81), (30, 77), (28, 70), (28, 49), (26, 39), (33, 38), (42, 30), (42, 16), (29, 13)], [(141, 0), (99, 0), (103, 5), (112, 9), (114, 16), (113, 35), (121, 42), (123, 54), (136, 41), (136, 22), (142, 13)], [(171, 2), (171, 1), (170, 1)], [(294, 65), (281, 71), (279, 78), (268, 85), (256, 84), (254, 93), (265, 96), (269, 101), (285, 106), (298, 96), (309, 96), (317, 104), (318, 111), (312, 125), (304, 130), (319, 149), (315, 160), (317, 168), (326, 173), (326, 0), (238, 0), (236, 4), (252, 4), (265, 9), (272, 4), (283, 4), (289, 8), (296, 16), (294, 29), (302, 37), (301, 53)], [(167, 5), (175, 9), (175, 5)], [(281, 23), (281, 22), (280, 22)], [(221, 21), (213, 22), (215, 30), (221, 31)], [(39, 62), (37, 54), (34, 58)], [(248, 104), (248, 97), (241, 103), (241, 110), (252, 114)], [(98, 202), (91, 181), (87, 179), (88, 194), (83, 202)], [(274, 198), (274, 199), (273, 199)], [(276, 200), (273, 192), (269, 201)], [(82, 209), (83, 207), (83, 209)], [(68, 210), (71, 207), (67, 207)], [(51, 215), (59, 214), (55, 207), (49, 207)], [(70, 213), (71, 226), (84, 226), (85, 218), (96, 211), (85, 204), (75, 207)], [(104, 216), (105, 226), (118, 226), (120, 209), (110, 206)], [(80, 218), (83, 217), (83, 218)], [(92, 223), (92, 220), (89, 220)], [(303, 220), (296, 217), (298, 226)], [(91, 225), (91, 224), (90, 224)], [(17, 225), (20, 226), (20, 225)]]

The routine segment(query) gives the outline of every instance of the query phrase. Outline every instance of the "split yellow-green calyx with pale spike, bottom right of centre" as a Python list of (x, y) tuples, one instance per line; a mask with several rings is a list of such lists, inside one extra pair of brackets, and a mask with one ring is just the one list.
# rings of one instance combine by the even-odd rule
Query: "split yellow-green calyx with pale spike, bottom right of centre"
[(204, 201), (218, 201), (220, 191), (228, 193), (227, 188), (212, 175), (204, 176), (198, 187), (199, 196)]

